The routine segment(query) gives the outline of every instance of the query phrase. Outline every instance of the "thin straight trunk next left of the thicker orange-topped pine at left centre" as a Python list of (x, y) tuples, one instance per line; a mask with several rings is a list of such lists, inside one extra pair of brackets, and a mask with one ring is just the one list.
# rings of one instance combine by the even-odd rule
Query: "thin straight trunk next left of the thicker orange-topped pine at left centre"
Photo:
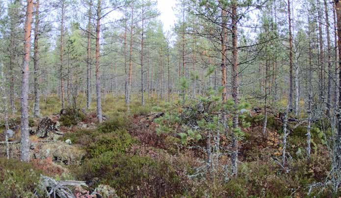
[(91, 13), (92, 13), (92, 0), (89, 1), (89, 12), (88, 12), (88, 29), (87, 29), (87, 56), (86, 56), (86, 108), (90, 108), (91, 93), (90, 93), (90, 79), (91, 79)]

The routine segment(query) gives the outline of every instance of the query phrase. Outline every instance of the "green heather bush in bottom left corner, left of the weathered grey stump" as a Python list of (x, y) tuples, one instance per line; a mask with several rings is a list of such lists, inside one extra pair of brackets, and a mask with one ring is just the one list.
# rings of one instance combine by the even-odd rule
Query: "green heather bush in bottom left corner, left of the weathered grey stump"
[(0, 197), (34, 197), (41, 173), (30, 163), (0, 158)]

